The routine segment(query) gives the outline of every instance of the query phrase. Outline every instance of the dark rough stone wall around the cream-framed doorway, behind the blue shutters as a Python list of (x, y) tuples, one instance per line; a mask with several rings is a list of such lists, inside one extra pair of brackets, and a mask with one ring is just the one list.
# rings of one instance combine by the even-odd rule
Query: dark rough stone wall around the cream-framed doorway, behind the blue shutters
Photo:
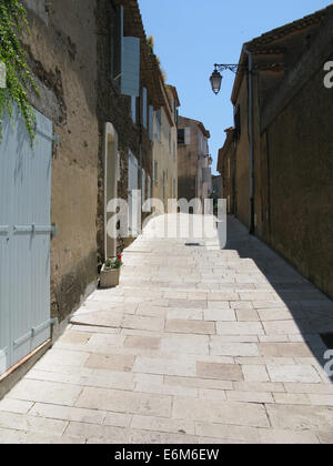
[[(120, 156), (120, 178), (118, 182), (118, 196), (128, 199), (128, 175), (129, 175), (129, 151), (138, 159), (140, 164), (140, 152), (142, 153), (142, 166), (145, 173), (152, 176), (152, 143), (149, 139), (148, 129), (135, 124), (131, 116), (131, 98), (119, 92), (119, 82), (113, 81), (112, 75), (112, 40), (108, 31), (115, 27), (117, 16), (114, 14), (113, 2), (99, 0), (95, 9), (95, 21), (100, 33), (97, 41), (98, 63), (98, 116), (99, 132), (104, 132), (104, 123), (110, 122), (118, 134), (118, 151)], [(130, 34), (131, 31), (124, 31)], [(142, 70), (141, 70), (142, 74)], [(142, 75), (141, 75), (142, 79)], [(144, 85), (144, 82), (141, 82)], [(139, 118), (139, 99), (137, 115)], [(98, 247), (99, 261), (103, 260), (104, 251), (104, 148), (103, 138), (100, 139), (99, 148), (99, 197), (98, 197)], [(140, 181), (140, 180), (139, 180)], [(144, 215), (143, 215), (144, 216)], [(118, 251), (121, 252), (133, 239), (124, 237), (118, 241)]]

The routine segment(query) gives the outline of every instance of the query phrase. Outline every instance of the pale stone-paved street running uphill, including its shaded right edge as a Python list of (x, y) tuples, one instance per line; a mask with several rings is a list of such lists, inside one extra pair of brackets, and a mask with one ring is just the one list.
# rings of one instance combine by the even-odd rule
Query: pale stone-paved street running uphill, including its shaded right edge
[(333, 304), (229, 230), (223, 251), (140, 236), (0, 402), (0, 443), (333, 443)]

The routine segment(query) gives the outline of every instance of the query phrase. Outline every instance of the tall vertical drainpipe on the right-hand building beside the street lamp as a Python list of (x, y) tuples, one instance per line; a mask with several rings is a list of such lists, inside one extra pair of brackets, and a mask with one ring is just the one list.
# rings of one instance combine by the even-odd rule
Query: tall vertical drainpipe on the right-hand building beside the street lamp
[(254, 225), (254, 111), (253, 111), (253, 57), (252, 52), (244, 47), (249, 57), (249, 123), (250, 123), (250, 227), (249, 233), (255, 233)]

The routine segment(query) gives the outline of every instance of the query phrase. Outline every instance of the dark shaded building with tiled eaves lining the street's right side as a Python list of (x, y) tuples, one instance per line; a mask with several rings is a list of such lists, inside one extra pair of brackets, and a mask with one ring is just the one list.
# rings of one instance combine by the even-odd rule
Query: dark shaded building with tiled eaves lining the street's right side
[[(332, 89), (325, 68), (333, 59), (332, 31), (331, 6), (246, 43), (232, 93), (236, 215), (246, 226), (253, 215), (255, 234), (331, 297)], [(245, 49), (254, 67), (252, 214)], [(222, 172), (223, 158), (222, 151)]]

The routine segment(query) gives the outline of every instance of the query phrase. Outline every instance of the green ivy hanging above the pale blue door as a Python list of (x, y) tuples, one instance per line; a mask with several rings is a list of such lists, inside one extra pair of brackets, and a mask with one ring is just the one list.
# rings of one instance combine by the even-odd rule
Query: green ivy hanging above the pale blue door
[(26, 52), (19, 36), (29, 31), (27, 13), (19, 0), (0, 0), (0, 61), (6, 65), (7, 88), (0, 89), (0, 140), (2, 120), (7, 112), (12, 116), (13, 103), (23, 116), (31, 145), (34, 139), (36, 116), (29, 103), (28, 92), (38, 94), (32, 74), (26, 61)]

